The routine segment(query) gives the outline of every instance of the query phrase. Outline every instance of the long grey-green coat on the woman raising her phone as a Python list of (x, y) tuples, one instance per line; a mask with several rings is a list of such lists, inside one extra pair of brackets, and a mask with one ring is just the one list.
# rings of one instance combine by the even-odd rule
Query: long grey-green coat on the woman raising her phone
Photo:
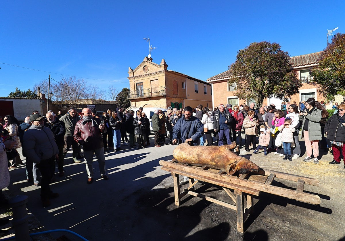
[(321, 140), (321, 125), (319, 123), (321, 121), (321, 117), (321, 110), (317, 109), (316, 107), (313, 107), (311, 111), (308, 111), (306, 116), (299, 116), (299, 121), (303, 121), (301, 138), (304, 137), (304, 124), (307, 119), (309, 140)]

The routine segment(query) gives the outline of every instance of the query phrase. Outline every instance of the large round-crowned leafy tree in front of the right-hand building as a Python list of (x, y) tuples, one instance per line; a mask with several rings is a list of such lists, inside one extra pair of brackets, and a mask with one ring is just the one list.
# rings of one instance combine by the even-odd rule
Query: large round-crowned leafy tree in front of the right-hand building
[(302, 84), (289, 63), (290, 56), (278, 43), (251, 43), (237, 52), (235, 63), (229, 67), (233, 76), (229, 85), (236, 84), (240, 99), (254, 99), (262, 106), (264, 98), (289, 98), (298, 93)]

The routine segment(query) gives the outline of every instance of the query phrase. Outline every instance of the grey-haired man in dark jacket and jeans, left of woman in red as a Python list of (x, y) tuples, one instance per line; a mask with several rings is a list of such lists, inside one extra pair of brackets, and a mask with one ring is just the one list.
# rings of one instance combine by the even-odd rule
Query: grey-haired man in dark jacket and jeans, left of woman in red
[(236, 141), (236, 122), (231, 113), (225, 110), (223, 104), (219, 105), (219, 110), (215, 113), (213, 127), (215, 132), (218, 132), (218, 146), (223, 146), (224, 136), (228, 145)]

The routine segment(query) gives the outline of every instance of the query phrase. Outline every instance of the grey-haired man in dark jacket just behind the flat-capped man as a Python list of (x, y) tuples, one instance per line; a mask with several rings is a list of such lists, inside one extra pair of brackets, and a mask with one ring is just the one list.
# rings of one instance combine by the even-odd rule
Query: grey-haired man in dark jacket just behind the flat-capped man
[[(63, 153), (63, 146), (65, 145), (65, 141), (63, 137), (66, 133), (65, 124), (60, 121), (55, 115), (51, 112), (46, 114), (47, 123), (45, 124), (46, 127), (51, 129), (55, 143), (58, 146), (59, 153)], [(63, 160), (65, 157), (63, 155), (59, 155), (58, 159), (58, 169), (59, 169), (59, 176), (62, 177), (63, 174)]]

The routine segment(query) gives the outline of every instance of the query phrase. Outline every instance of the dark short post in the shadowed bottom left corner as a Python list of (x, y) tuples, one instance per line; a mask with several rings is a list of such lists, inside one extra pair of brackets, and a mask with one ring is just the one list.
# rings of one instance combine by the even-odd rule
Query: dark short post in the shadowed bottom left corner
[(16, 240), (30, 241), (29, 236), (29, 215), (26, 211), (28, 196), (18, 195), (10, 199), (9, 204), (12, 207), (14, 233)]

